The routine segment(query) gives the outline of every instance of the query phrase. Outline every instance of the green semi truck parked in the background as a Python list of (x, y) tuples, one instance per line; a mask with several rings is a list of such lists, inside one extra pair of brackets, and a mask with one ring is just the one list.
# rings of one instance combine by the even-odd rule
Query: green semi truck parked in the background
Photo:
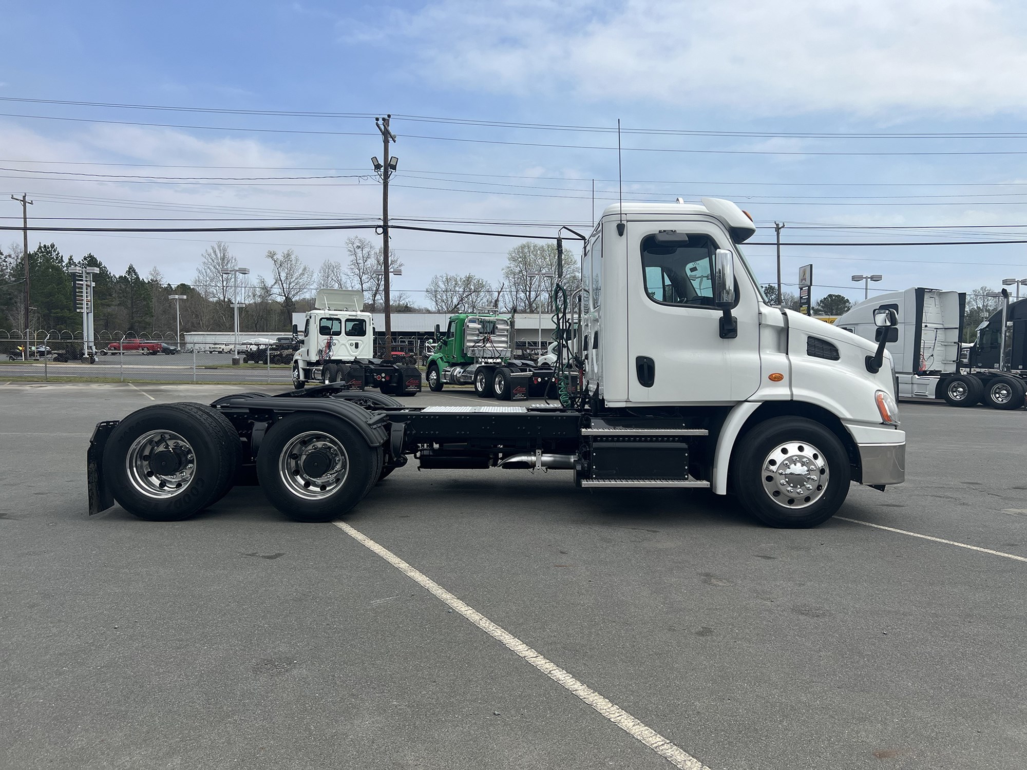
[(514, 323), (496, 313), (456, 313), (444, 333), (435, 326), (435, 349), (428, 358), (428, 387), (473, 385), (480, 398), (519, 400), (546, 394), (556, 370), (548, 363), (515, 357)]

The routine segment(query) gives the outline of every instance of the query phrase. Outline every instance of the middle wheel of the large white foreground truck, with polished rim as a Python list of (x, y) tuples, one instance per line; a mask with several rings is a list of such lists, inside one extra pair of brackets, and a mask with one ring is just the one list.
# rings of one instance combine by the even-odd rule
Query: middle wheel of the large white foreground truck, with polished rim
[(268, 500), (297, 522), (331, 522), (360, 501), (381, 473), (379, 448), (336, 417), (296, 413), (271, 428), (257, 455)]

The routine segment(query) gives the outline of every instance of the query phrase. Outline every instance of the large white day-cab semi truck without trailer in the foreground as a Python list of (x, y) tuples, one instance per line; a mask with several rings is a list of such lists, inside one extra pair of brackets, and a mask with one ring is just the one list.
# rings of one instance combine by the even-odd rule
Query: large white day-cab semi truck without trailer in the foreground
[(559, 469), (588, 489), (711, 489), (768, 525), (815, 526), (851, 483), (904, 479), (891, 359), (767, 305), (739, 246), (754, 232), (720, 199), (607, 208), (583, 251), (577, 334), (565, 319), (556, 336), (559, 376), (581, 378), (562, 406), (410, 407), (342, 384), (155, 405), (97, 426), (90, 512), (117, 501), (182, 519), (256, 479), (286, 515), (326, 522), (414, 457)]

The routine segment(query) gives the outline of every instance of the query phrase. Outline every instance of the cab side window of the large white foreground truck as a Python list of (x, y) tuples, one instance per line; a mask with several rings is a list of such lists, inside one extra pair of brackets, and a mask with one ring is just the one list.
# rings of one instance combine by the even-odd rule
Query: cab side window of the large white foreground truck
[(717, 242), (709, 235), (688, 234), (684, 246), (656, 245), (653, 236), (642, 239), (642, 269), (646, 294), (665, 305), (714, 306), (713, 260)]

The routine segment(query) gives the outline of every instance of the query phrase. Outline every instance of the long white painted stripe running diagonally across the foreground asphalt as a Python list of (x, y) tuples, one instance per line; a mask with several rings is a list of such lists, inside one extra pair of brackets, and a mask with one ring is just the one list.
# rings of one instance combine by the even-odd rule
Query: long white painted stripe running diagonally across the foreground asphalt
[(379, 545), (367, 535), (357, 532), (345, 522), (333, 522), (333, 524), (351, 538), (360, 544), (366, 545), (379, 556), (391, 564), (411, 580), (418, 583), (423, 588), (426, 588), (428, 591), (448, 604), (490, 637), (498, 642), (501, 642), (507, 649), (520, 655), (558, 685), (577, 695), (581, 698), (581, 700), (606, 717), (606, 719), (610, 720), (610, 722), (619, 727), (621, 730), (641, 740), (649, 746), (649, 748), (654, 750), (675, 767), (682, 768), (682, 770), (710, 770), (710, 768), (689, 755), (687, 752), (679, 748), (656, 731), (643, 725), (637, 719), (627, 714), (627, 711), (617, 705), (614, 705), (591, 687), (578, 682), (574, 679), (574, 677), (569, 675), (556, 663), (542, 657), (512, 633), (500, 628), (472, 607), (469, 607), (461, 602), (459, 599), (439, 585), (439, 583), (434, 580), (411, 567), (392, 551)]

